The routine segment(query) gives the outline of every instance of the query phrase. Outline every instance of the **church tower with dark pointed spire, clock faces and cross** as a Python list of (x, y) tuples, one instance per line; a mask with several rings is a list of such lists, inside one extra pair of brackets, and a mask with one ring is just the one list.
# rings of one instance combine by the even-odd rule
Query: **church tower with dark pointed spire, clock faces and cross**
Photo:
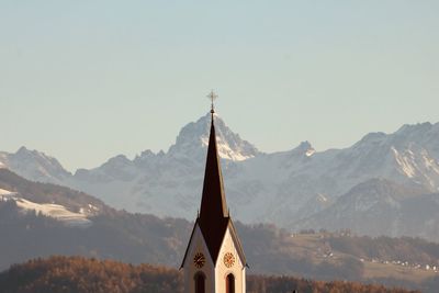
[(200, 213), (181, 268), (185, 293), (245, 293), (246, 258), (228, 213), (216, 148), (212, 91), (211, 133)]

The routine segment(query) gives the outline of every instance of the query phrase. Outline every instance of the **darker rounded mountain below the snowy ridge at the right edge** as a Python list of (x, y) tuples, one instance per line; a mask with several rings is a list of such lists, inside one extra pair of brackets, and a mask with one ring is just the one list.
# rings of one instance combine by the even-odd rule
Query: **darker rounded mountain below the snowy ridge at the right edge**
[(296, 229), (350, 229), (363, 235), (413, 235), (439, 241), (439, 194), (372, 179), (352, 188), (328, 209), (302, 219)]

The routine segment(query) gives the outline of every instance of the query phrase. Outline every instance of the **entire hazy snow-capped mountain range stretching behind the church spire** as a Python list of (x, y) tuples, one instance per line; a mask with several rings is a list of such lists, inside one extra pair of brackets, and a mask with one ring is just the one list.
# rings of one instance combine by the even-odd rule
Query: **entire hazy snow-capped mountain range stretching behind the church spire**
[[(311, 221), (313, 216), (320, 217), (320, 212), (334, 214), (333, 210), (326, 209), (349, 201), (345, 194), (372, 179), (398, 184), (401, 193), (408, 192), (404, 189), (420, 190), (413, 201), (424, 201), (427, 198), (421, 194), (436, 193), (439, 188), (439, 123), (404, 125), (393, 134), (371, 133), (345, 149), (319, 153), (305, 142), (292, 150), (274, 154), (258, 151), (234, 134), (218, 116), (215, 125), (230, 213), (245, 223), (271, 222), (286, 228), (313, 223), (317, 225), (314, 228), (319, 228), (322, 222)], [(41, 161), (43, 156), (37, 151), (31, 151), (33, 159), (25, 160), (16, 159), (16, 154), (2, 153), (0, 162), (29, 179), (82, 190), (117, 209), (192, 219), (201, 200), (209, 127), (206, 115), (185, 125), (167, 153), (145, 150), (133, 160), (120, 155), (98, 168), (80, 169), (75, 176), (45, 155), (47, 161)], [(14, 164), (11, 157), (14, 157)], [(363, 187), (376, 188), (372, 185)], [(385, 189), (379, 189), (375, 195), (385, 198)], [(358, 196), (370, 194), (362, 192)], [(340, 212), (346, 215), (338, 213), (338, 217), (348, 221), (349, 213), (357, 213), (350, 210), (353, 206), (347, 204)], [(379, 206), (372, 205), (367, 214), (383, 214), (384, 211), (374, 210)], [(384, 214), (396, 217), (396, 212)], [(381, 217), (384, 219), (384, 215)], [(404, 214), (404, 218), (398, 216), (392, 223), (396, 227), (409, 223), (413, 217)], [(346, 227), (341, 219), (333, 218), (327, 223), (334, 223), (333, 228)], [(376, 225), (356, 227), (371, 234), (383, 230)], [(386, 228), (386, 233), (390, 229)], [(427, 235), (431, 239), (430, 233), (423, 228), (392, 228), (392, 235), (402, 233)]]

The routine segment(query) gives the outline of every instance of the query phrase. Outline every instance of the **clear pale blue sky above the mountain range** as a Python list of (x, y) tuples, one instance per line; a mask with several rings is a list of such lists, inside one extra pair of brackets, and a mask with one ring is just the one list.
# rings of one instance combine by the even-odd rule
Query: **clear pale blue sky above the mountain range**
[(167, 150), (211, 89), (263, 151), (438, 122), (439, 1), (0, 0), (0, 150)]

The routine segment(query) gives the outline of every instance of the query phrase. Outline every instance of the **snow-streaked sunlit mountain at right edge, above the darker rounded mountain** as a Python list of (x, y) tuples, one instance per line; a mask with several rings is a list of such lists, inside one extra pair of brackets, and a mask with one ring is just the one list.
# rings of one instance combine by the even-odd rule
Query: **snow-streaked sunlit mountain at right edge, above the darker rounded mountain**
[[(338, 155), (339, 174), (361, 179), (386, 178), (401, 183), (423, 185), (431, 192), (439, 188), (439, 123), (404, 125), (386, 135), (372, 133)], [(347, 190), (346, 190), (347, 191)]]

